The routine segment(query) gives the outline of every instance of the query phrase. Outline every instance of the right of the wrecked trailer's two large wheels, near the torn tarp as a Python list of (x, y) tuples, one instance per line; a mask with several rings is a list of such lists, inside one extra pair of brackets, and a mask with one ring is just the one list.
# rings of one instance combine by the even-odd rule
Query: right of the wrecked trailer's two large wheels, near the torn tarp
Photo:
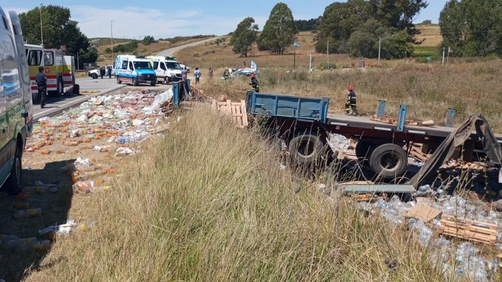
[(369, 167), (384, 178), (399, 177), (408, 168), (408, 155), (399, 145), (383, 144), (371, 152)]

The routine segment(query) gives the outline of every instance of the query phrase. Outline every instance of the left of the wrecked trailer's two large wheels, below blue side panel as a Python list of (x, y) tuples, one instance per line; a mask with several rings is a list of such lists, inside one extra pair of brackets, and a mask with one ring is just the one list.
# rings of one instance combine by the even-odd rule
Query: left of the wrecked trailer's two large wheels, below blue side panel
[(323, 153), (322, 141), (316, 135), (309, 133), (297, 134), (289, 142), (291, 158), (298, 164), (311, 164)]

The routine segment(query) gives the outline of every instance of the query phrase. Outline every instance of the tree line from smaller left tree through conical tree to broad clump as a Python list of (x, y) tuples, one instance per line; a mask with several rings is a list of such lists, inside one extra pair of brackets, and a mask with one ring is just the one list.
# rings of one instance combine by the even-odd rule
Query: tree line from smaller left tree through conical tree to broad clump
[(420, 31), (413, 19), (427, 5), (424, 0), (348, 0), (329, 5), (318, 19), (295, 21), (288, 6), (278, 3), (259, 37), (255, 20), (246, 18), (232, 33), (230, 45), (246, 57), (255, 42), (260, 51), (284, 54), (298, 31), (314, 31), (319, 53), (375, 58), (380, 46), (382, 58), (403, 58), (421, 43), (415, 39)]

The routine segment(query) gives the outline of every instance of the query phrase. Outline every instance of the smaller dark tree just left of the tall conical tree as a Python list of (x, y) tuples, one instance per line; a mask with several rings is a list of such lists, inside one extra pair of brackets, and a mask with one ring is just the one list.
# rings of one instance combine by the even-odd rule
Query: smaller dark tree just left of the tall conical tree
[(233, 46), (232, 51), (235, 54), (247, 57), (247, 52), (251, 51), (251, 46), (258, 38), (258, 25), (254, 23), (255, 19), (249, 17), (237, 25), (230, 39), (230, 45)]

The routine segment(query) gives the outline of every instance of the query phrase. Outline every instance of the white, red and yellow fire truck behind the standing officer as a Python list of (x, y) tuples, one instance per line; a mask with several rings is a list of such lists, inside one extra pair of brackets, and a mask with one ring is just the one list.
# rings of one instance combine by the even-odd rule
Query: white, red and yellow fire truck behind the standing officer
[(34, 101), (39, 99), (38, 87), (35, 82), (39, 67), (44, 67), (44, 73), (47, 76), (47, 92), (49, 94), (63, 95), (65, 87), (75, 84), (74, 59), (72, 56), (64, 55), (64, 47), (61, 49), (46, 49), (40, 45), (25, 44), (25, 48)]

